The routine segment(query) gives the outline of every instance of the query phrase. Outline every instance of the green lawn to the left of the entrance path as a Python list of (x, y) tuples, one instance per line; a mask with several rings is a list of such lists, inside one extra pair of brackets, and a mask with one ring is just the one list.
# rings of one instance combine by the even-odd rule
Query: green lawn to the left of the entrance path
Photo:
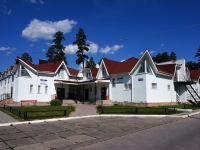
[[(74, 106), (14, 106), (12, 107), (12, 113), (9, 111), (9, 107), (7, 107), (7, 109), (8, 110), (2, 108), (2, 111), (20, 121), (24, 120), (22, 118), (24, 118), (25, 112), (27, 112), (26, 120), (35, 120), (66, 117), (69, 116), (72, 111), (75, 111)], [(17, 116), (19, 114), (22, 118)]]

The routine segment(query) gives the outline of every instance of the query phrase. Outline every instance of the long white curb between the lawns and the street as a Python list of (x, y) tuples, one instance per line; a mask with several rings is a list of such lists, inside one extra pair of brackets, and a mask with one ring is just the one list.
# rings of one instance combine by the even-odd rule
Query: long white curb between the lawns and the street
[(3, 126), (12, 126), (12, 125), (20, 125), (20, 124), (34, 124), (34, 123), (44, 123), (44, 122), (52, 122), (52, 121), (62, 121), (62, 120), (72, 120), (72, 119), (84, 119), (84, 118), (93, 118), (93, 117), (156, 117), (156, 118), (162, 118), (162, 117), (174, 117), (174, 118), (187, 118), (194, 115), (200, 114), (199, 112), (187, 114), (187, 115), (87, 115), (87, 116), (76, 116), (76, 117), (66, 117), (66, 118), (53, 118), (53, 119), (44, 119), (44, 120), (34, 120), (34, 121), (23, 121), (23, 122), (10, 122), (10, 123), (2, 123), (0, 124), (0, 127)]

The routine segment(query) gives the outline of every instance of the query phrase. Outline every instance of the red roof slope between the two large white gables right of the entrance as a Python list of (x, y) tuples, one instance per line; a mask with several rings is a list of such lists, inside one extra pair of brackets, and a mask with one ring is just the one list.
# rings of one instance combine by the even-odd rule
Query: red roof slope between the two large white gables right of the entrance
[(138, 62), (138, 58), (129, 58), (123, 62), (120, 62), (114, 69), (110, 72), (110, 74), (118, 74), (118, 73), (126, 73), (130, 72), (133, 67)]

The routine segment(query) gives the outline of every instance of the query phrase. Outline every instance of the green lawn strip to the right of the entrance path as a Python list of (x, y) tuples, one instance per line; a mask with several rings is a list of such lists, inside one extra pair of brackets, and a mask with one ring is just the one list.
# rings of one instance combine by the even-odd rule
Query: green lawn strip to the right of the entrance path
[(171, 115), (181, 113), (181, 111), (174, 111), (168, 108), (182, 108), (182, 109), (200, 109), (198, 106), (192, 105), (170, 105), (159, 107), (137, 107), (137, 106), (103, 106), (98, 107), (99, 114), (157, 114), (157, 115)]

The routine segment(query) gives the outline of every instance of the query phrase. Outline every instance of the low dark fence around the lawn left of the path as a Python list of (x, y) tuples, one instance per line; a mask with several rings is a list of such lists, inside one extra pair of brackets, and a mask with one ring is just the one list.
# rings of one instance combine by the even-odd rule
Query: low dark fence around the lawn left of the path
[(24, 111), (8, 105), (4, 105), (3, 108), (19, 116), (20, 118), (23, 118), (24, 120), (27, 120), (28, 118), (34, 119), (34, 118), (47, 118), (52, 116), (55, 117), (55, 116), (67, 115), (67, 110)]

